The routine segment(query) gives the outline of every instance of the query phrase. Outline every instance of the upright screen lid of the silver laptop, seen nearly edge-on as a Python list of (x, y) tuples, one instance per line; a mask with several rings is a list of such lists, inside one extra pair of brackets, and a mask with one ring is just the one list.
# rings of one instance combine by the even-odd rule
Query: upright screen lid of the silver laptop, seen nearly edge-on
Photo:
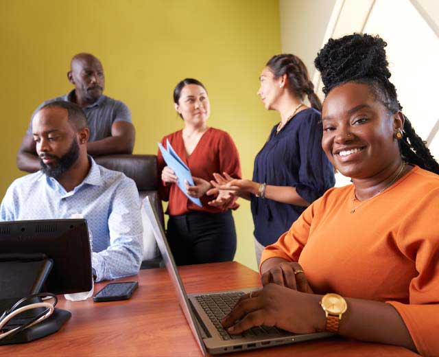
[(191, 327), (192, 334), (195, 336), (198, 345), (200, 346), (201, 351), (204, 356), (206, 355), (206, 348), (204, 347), (204, 343), (202, 341), (201, 333), (198, 325), (195, 323), (195, 316), (189, 305), (189, 299), (187, 297), (187, 293), (185, 290), (185, 286), (183, 286), (182, 280), (180, 278), (180, 274), (178, 273), (176, 263), (174, 262), (174, 257), (172, 257), (171, 249), (169, 248), (169, 244), (167, 244), (165, 232), (161, 227), (160, 220), (158, 219), (157, 212), (152, 205), (150, 197), (145, 197), (142, 205), (142, 218), (147, 217), (147, 220), (150, 221), (152, 231), (154, 231), (154, 237), (156, 238), (158, 249), (160, 249), (160, 253), (163, 257), (163, 261), (165, 262), (165, 266), (167, 268), (167, 272), (169, 273), (169, 277), (171, 277), (172, 284), (176, 289), (178, 301), (180, 302), (180, 308), (185, 314), (187, 319), (187, 323)]

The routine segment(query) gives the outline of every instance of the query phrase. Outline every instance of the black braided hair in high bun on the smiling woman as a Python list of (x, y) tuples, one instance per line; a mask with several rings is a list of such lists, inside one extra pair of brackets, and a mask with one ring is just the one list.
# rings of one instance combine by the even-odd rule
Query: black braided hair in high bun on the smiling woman
[[(314, 60), (322, 74), (324, 94), (328, 95), (331, 89), (346, 82), (368, 84), (389, 114), (401, 111), (396, 89), (389, 80), (391, 73), (385, 58), (385, 46), (387, 43), (382, 38), (368, 34), (351, 34), (336, 40), (331, 38)], [(405, 135), (399, 140), (403, 159), (439, 174), (438, 162), (415, 133), (410, 120), (404, 118)]]

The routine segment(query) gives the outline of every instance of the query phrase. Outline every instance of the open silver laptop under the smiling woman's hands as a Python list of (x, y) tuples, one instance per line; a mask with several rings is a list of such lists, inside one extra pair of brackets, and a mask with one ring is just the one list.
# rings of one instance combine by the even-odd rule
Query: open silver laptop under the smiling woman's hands
[(225, 354), (247, 349), (308, 341), (332, 335), (327, 332), (292, 334), (276, 327), (268, 326), (252, 327), (240, 335), (228, 334), (222, 328), (220, 321), (230, 312), (242, 295), (252, 290), (259, 290), (259, 288), (243, 289), (240, 291), (200, 292), (187, 295), (160, 220), (149, 197), (143, 200), (142, 216), (151, 222), (158, 249), (161, 251), (172, 284), (176, 289), (180, 307), (204, 355), (206, 355), (206, 352), (209, 352), (209, 354)]

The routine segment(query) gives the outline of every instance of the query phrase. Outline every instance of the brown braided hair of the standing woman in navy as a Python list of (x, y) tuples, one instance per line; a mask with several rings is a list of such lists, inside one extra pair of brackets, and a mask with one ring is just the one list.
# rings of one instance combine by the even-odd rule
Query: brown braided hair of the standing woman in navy
[(307, 67), (298, 56), (278, 54), (270, 58), (267, 67), (273, 72), (274, 78), (286, 74), (289, 90), (300, 100), (303, 100), (303, 97), (307, 95), (311, 106), (318, 111), (322, 111), (322, 102), (314, 93), (314, 84), (309, 80)]

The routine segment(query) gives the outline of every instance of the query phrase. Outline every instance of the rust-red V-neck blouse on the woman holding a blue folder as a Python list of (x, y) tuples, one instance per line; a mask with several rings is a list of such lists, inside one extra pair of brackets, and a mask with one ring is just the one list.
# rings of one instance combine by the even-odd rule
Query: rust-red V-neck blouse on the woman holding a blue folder
[[(169, 140), (172, 148), (178, 154), (180, 159), (185, 162), (192, 176), (200, 177), (206, 181), (215, 180), (213, 173), (222, 174), (227, 172), (235, 179), (241, 179), (241, 165), (239, 164), (238, 150), (233, 143), (233, 139), (223, 130), (209, 128), (198, 141), (193, 152), (187, 157), (185, 142), (183, 141), (182, 130), (165, 136), (161, 143), (166, 148), (166, 141)], [(158, 150), (157, 154), (158, 174), (161, 172), (166, 163), (163, 156)], [(200, 198), (202, 207), (193, 203), (178, 187), (178, 185), (167, 185), (163, 181), (158, 187), (158, 192), (162, 200), (169, 200), (166, 213), (170, 216), (187, 214), (190, 211), (204, 211), (209, 213), (219, 213), (220, 209), (209, 206), (207, 203), (213, 200), (213, 196), (202, 196)], [(239, 207), (237, 203), (233, 209)]]

